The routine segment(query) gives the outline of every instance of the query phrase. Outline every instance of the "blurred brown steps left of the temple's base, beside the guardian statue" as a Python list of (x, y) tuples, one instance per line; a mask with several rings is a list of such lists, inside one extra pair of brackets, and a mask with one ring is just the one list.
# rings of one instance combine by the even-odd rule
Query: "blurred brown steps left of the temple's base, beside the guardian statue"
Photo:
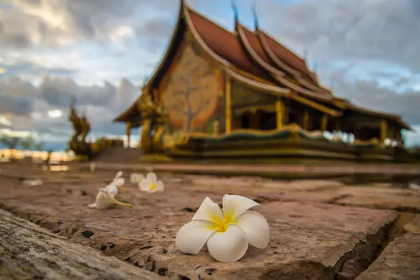
[(94, 162), (135, 163), (140, 156), (140, 148), (112, 147), (95, 158)]

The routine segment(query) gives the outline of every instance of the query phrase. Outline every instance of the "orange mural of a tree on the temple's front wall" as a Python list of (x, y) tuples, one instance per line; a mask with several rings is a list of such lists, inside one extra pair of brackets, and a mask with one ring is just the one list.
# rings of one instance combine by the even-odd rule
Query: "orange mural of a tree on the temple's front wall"
[(214, 113), (220, 89), (218, 71), (186, 45), (163, 90), (162, 102), (175, 126), (192, 132)]

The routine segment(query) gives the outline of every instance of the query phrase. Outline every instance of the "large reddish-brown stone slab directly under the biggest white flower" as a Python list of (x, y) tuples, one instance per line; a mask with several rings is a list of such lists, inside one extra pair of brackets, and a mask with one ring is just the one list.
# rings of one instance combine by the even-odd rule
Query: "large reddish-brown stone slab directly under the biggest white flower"
[[(110, 172), (106, 178), (114, 175)], [(85, 181), (66, 183), (65, 178), (74, 178), (69, 172), (49, 173), (43, 186), (35, 188), (0, 184), (0, 203), (52, 232), (174, 279), (180, 275), (190, 279), (332, 279), (346, 260), (372, 258), (398, 216), (395, 211), (308, 201), (262, 201), (254, 210), (267, 218), (269, 245), (250, 247), (239, 262), (221, 263), (205, 247), (198, 255), (179, 252), (174, 238), (206, 195), (220, 204), (223, 194), (235, 188), (223, 191), (223, 184), (212, 178), (214, 183), (195, 190), (191, 180), (186, 185), (187, 179), (174, 176), (171, 180), (170, 175), (158, 174), (166, 183), (164, 193), (141, 193), (137, 186), (126, 184), (119, 199), (134, 204), (132, 209), (98, 211), (86, 206), (104, 186), (105, 174), (78, 176)], [(220, 188), (216, 193), (205, 193), (214, 185)], [(250, 198), (261, 194), (253, 188), (238, 188), (238, 192)]]

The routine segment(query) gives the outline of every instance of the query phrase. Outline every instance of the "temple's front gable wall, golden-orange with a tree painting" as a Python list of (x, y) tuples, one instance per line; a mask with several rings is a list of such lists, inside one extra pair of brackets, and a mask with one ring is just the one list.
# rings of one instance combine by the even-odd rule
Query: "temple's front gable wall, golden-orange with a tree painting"
[(213, 133), (224, 130), (224, 76), (193, 36), (187, 31), (172, 66), (160, 83), (159, 102), (169, 123), (185, 132)]

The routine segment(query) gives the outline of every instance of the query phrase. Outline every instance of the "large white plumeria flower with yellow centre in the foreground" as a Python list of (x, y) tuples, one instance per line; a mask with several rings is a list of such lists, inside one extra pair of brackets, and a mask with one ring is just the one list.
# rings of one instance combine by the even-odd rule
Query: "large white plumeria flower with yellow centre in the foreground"
[(267, 220), (248, 211), (257, 205), (247, 197), (225, 195), (222, 212), (218, 204), (206, 197), (190, 223), (176, 234), (176, 246), (183, 253), (197, 255), (207, 242), (210, 255), (219, 262), (239, 260), (248, 244), (265, 248), (269, 239)]

